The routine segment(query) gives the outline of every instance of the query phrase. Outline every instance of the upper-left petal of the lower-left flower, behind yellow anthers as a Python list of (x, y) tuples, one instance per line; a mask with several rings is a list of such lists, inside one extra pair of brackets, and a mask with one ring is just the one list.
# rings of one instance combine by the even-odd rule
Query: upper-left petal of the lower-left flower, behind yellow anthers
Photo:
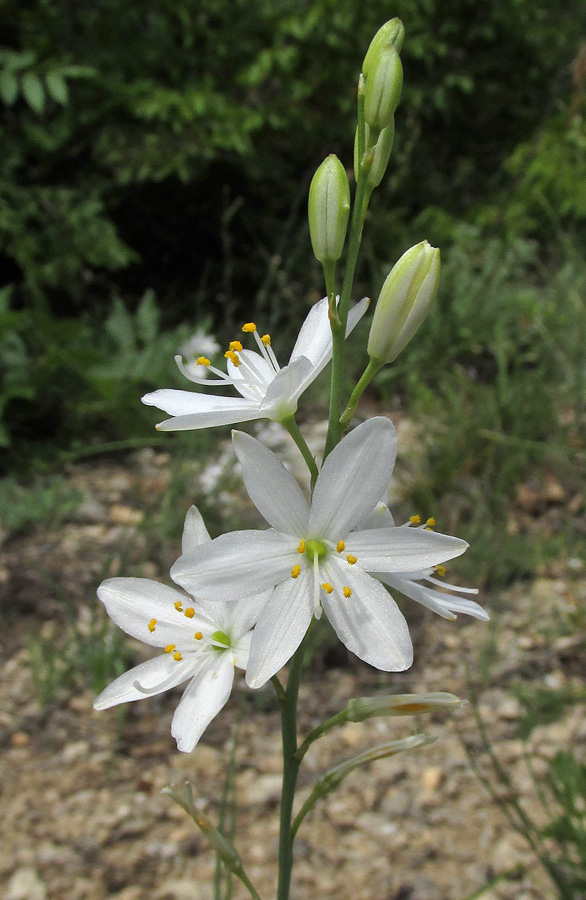
[[(196, 608), (190, 597), (148, 578), (108, 578), (99, 586), (98, 597), (110, 618), (126, 634), (151, 647), (190, 642), (196, 631), (202, 626), (207, 630), (209, 625), (203, 611), (198, 610), (188, 619), (183, 611), (175, 609), (178, 600), (183, 609)], [(151, 632), (148, 624), (153, 619), (156, 624)]]

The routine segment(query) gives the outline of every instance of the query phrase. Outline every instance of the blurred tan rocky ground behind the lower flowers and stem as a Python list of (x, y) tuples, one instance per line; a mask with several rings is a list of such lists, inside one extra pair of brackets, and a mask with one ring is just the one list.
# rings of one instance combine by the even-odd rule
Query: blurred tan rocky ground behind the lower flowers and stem
[[(275, 429), (265, 437), (281, 440)], [(314, 438), (319, 442), (319, 429)], [(218, 514), (236, 503), (246, 517), (251, 510), (234, 493), (231, 466), (226, 447), (213, 465), (194, 463), (185, 484), (192, 479), (200, 491), (215, 488)], [(211, 900), (213, 855), (161, 789), (189, 779), (198, 804), (216, 819), (235, 741), (236, 842), (261, 896), (274, 897), (280, 737), (270, 690), (253, 694), (240, 684), (191, 755), (178, 753), (169, 733), (176, 694), (145, 699), (122, 714), (97, 713), (93, 691), (73, 678), (44, 705), (39, 701), (31, 660), (37, 682), (49, 665), (39, 647), (58, 648), (57, 672), (65, 658), (87, 666), (84, 636), (100, 621), (95, 588), (101, 578), (120, 572), (163, 579), (173, 559), (145, 526), (149, 504), (172, 480), (166, 454), (143, 451), (124, 465), (78, 464), (67, 477), (83, 495), (75, 512), (57, 526), (10, 537), (3, 548), (1, 893), (6, 900)], [(316, 652), (301, 689), (299, 731), (306, 734), (354, 696), (476, 692), (512, 787), (499, 785), (491, 770), (472, 705), (417, 722), (377, 719), (339, 728), (307, 754), (299, 803), (319, 773), (373, 744), (414, 728), (437, 740), (354, 772), (318, 804), (299, 832), (294, 900), (557, 896), (478, 780), (469, 754), (498, 796), (516, 793), (528, 814), (544, 822), (535, 778), (543, 778), (560, 749), (585, 756), (586, 704), (578, 702), (584, 700), (585, 643), (576, 622), (584, 622), (586, 571), (575, 560), (565, 573), (546, 573), (481, 600), (492, 615), (488, 625), (451, 623), (406, 606), (416, 656), (400, 676), (377, 673), (335, 646)], [(138, 643), (129, 646), (135, 661), (148, 655)], [(527, 743), (519, 737), (526, 715), (517, 699), (520, 684), (526, 694), (547, 688), (553, 697), (573, 698), (565, 706), (560, 699), (549, 716), (555, 721), (538, 725)], [(235, 885), (235, 900), (246, 896)]]

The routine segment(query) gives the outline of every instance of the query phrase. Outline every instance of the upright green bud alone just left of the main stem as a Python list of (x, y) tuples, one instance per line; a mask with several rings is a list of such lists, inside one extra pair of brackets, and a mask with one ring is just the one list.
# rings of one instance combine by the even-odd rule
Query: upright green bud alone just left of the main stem
[(349, 215), (348, 176), (332, 153), (324, 159), (309, 188), (309, 234), (321, 263), (335, 262), (342, 255)]

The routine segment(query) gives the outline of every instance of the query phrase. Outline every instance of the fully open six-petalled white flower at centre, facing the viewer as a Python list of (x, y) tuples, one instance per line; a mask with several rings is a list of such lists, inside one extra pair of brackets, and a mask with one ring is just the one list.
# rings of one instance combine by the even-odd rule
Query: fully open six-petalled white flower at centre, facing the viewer
[(322, 608), (341, 641), (384, 671), (411, 665), (407, 623), (371, 572), (406, 572), (459, 556), (465, 541), (421, 529), (352, 529), (386, 491), (397, 451), (395, 429), (377, 417), (359, 425), (327, 457), (311, 506), (274, 453), (233, 433), (244, 483), (272, 526), (222, 535), (181, 556), (174, 581), (205, 600), (274, 591), (254, 630), (247, 681), (259, 687), (292, 656)]

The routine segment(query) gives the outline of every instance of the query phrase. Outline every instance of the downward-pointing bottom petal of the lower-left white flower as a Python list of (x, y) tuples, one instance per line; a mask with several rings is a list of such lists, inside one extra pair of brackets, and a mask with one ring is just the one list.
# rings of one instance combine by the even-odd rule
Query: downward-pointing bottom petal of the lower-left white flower
[(191, 753), (205, 729), (228, 701), (234, 683), (229, 652), (214, 653), (187, 685), (171, 723), (177, 749)]

